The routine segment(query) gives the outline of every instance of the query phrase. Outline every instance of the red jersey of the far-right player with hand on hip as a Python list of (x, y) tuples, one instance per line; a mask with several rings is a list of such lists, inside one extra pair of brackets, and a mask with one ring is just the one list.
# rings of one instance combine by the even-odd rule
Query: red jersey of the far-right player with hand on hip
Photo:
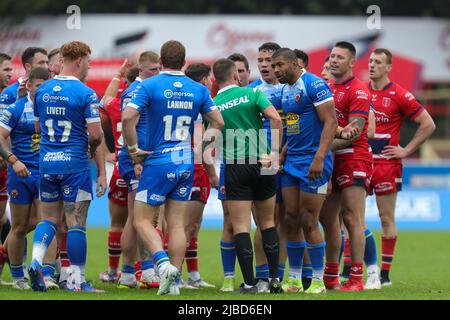
[(400, 142), (400, 128), (403, 120), (417, 118), (425, 109), (414, 96), (396, 84), (388, 83), (381, 90), (374, 90), (368, 85), (375, 109), (376, 128), (374, 139), (370, 140), (374, 161), (397, 162), (402, 159), (387, 159), (382, 155), (385, 146), (397, 146)]

